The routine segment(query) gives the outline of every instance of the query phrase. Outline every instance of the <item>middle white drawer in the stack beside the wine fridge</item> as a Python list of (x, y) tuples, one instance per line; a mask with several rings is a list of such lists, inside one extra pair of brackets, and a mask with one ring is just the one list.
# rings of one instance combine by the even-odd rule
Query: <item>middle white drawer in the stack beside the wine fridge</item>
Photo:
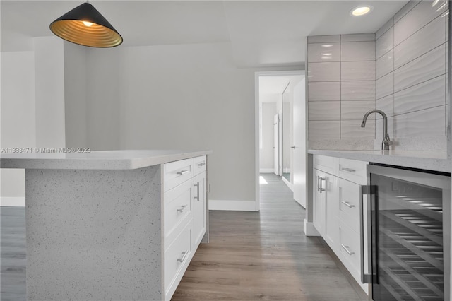
[(339, 218), (359, 232), (359, 185), (339, 178)]

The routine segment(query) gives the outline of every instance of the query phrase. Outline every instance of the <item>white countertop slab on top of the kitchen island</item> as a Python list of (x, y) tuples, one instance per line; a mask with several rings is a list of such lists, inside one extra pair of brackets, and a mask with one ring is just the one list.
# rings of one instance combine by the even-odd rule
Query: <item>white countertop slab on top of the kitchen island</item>
[(213, 151), (182, 151), (137, 158), (0, 158), (0, 167), (25, 170), (135, 170), (211, 153)]

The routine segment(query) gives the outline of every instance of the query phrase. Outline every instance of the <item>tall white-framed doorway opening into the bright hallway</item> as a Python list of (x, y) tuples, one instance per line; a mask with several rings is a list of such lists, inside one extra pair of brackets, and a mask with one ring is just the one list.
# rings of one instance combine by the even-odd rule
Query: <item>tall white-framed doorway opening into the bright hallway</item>
[(306, 95), (304, 71), (257, 72), (256, 210), (261, 173), (280, 177), (306, 206)]

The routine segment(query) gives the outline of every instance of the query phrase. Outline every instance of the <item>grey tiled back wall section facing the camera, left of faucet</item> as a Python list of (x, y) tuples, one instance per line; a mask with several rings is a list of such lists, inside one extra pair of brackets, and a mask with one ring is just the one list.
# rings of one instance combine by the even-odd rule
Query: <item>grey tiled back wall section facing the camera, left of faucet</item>
[[(335, 37), (309, 37), (308, 41), (309, 140), (338, 143), (347, 139), (350, 146), (357, 146), (362, 143), (354, 141), (367, 138), (365, 143), (369, 143), (374, 138), (374, 124), (367, 129), (360, 124), (365, 112), (375, 108), (375, 35), (341, 35), (339, 41)], [(340, 63), (325, 64), (325, 53), (336, 59), (337, 45)], [(327, 48), (331, 52), (324, 51)], [(346, 144), (340, 143), (341, 148)]]

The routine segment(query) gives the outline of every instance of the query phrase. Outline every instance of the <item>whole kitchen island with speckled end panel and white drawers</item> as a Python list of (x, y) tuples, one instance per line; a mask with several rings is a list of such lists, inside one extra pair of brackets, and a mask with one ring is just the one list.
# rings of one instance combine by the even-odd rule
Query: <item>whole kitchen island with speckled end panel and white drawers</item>
[(209, 153), (2, 154), (25, 169), (27, 300), (169, 300), (208, 242)]

